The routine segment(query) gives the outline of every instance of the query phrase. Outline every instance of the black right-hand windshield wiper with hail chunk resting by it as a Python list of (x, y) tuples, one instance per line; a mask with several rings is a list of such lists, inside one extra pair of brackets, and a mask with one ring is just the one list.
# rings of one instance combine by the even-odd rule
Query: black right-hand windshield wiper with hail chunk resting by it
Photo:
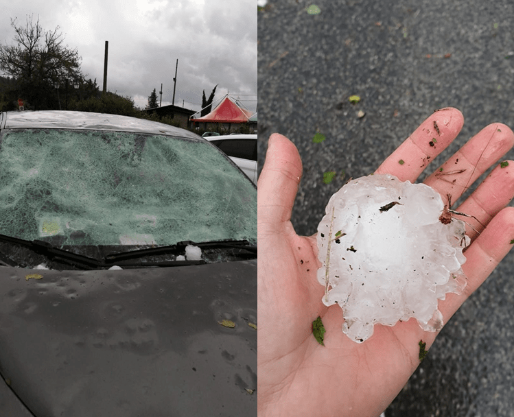
[(158, 246), (156, 248), (145, 248), (137, 250), (128, 250), (126, 252), (117, 252), (106, 255), (105, 259), (109, 262), (121, 261), (124, 259), (135, 259), (141, 257), (150, 257), (164, 254), (184, 254), (186, 246), (196, 246), (200, 249), (216, 249), (231, 248), (239, 250), (247, 250), (250, 253), (257, 254), (257, 246), (252, 245), (247, 240), (220, 240), (207, 242), (181, 241), (170, 246)]

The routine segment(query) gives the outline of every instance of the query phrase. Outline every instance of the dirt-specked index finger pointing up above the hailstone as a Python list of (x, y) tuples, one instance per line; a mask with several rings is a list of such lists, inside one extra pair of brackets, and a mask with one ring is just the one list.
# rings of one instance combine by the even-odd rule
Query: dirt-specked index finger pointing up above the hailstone
[(464, 117), (456, 108), (434, 112), (384, 160), (375, 173), (391, 174), (401, 181), (414, 182), (423, 169), (452, 143), (463, 124)]

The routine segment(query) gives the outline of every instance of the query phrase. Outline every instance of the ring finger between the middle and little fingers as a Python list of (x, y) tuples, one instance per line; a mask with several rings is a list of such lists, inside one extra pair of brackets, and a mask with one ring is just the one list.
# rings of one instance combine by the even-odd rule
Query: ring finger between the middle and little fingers
[(466, 235), (474, 240), (484, 226), (514, 198), (514, 161), (499, 164), (456, 211), (468, 216), (454, 215), (466, 222)]

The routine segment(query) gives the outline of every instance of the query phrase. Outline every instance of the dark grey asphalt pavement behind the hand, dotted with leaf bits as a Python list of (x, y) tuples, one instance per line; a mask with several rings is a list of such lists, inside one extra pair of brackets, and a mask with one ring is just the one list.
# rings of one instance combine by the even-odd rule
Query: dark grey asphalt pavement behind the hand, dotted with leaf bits
[[(268, 1), (258, 13), (259, 169), (272, 132), (299, 148), (297, 233), (315, 233), (330, 196), (371, 174), (437, 108), (458, 108), (465, 124), (428, 174), (489, 123), (514, 128), (513, 2), (315, 4), (318, 14), (300, 0)], [(326, 139), (314, 143), (316, 134)], [(386, 417), (514, 416), (513, 301), (511, 253), (444, 327)]]

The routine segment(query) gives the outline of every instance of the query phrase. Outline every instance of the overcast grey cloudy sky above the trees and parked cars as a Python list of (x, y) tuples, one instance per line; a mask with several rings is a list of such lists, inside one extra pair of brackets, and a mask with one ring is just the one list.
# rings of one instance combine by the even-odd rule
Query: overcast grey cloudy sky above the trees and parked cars
[[(163, 106), (200, 110), (216, 84), (214, 101), (239, 95), (257, 108), (257, 8), (255, 0), (23, 0), (1, 1), (0, 42), (12, 44), (10, 19), (25, 26), (26, 16), (45, 31), (60, 27), (65, 44), (77, 48), (82, 73), (104, 80), (108, 40), (107, 89), (144, 108), (163, 84)], [(249, 101), (244, 101), (249, 100)]]

